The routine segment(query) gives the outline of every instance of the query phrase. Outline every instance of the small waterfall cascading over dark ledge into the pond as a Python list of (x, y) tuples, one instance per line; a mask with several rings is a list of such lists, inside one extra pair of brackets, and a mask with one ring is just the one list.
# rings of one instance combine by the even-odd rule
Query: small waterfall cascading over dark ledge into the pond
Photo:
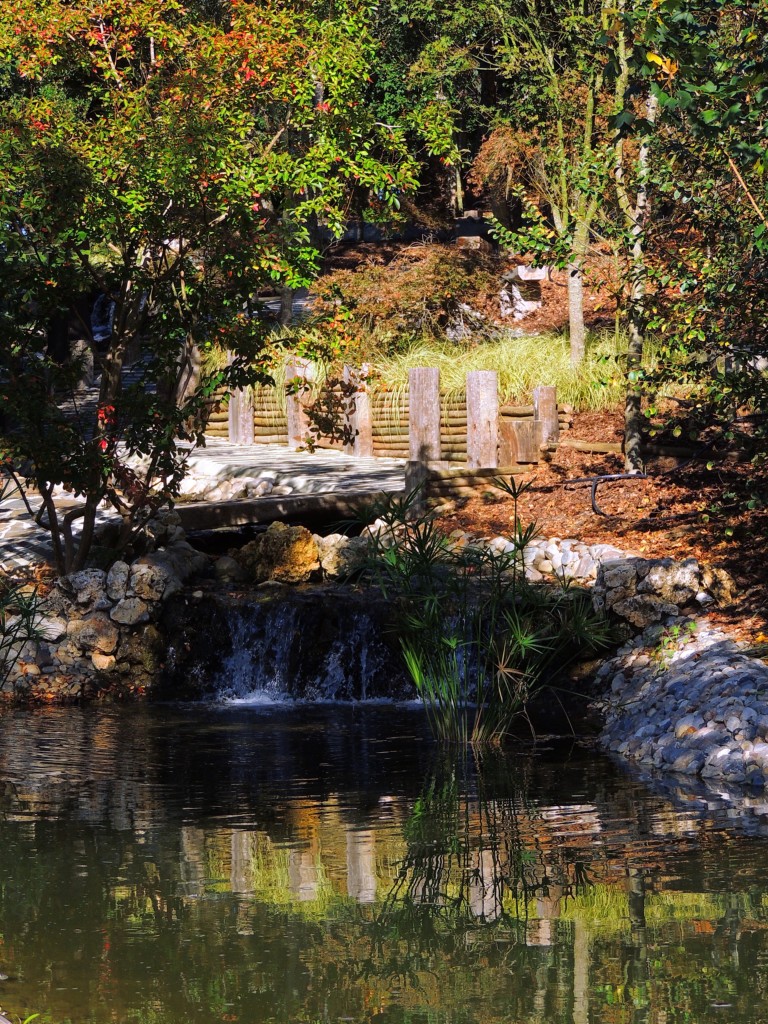
[(163, 695), (248, 703), (414, 696), (386, 601), (352, 588), (179, 597)]

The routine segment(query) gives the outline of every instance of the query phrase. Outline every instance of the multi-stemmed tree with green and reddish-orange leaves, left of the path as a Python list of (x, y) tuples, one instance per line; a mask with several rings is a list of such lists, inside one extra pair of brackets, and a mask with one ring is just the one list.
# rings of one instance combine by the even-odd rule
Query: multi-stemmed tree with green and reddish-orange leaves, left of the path
[[(184, 471), (214, 391), (259, 380), (266, 283), (308, 284), (319, 225), (350, 197), (386, 209), (415, 187), (403, 132), (366, 101), (371, 10), (337, 4), (22, 0), (0, 10), (0, 444), (43, 498), (61, 571), (95, 509), (127, 544)], [(95, 414), (48, 343), (96, 296), (114, 306)], [(214, 344), (236, 358), (199, 373)], [(67, 342), (65, 342), (65, 345)], [(62, 365), (63, 360), (63, 365)], [(142, 379), (124, 389), (137, 360)], [(65, 408), (66, 407), (66, 408)], [(76, 542), (52, 488), (83, 498)]]

